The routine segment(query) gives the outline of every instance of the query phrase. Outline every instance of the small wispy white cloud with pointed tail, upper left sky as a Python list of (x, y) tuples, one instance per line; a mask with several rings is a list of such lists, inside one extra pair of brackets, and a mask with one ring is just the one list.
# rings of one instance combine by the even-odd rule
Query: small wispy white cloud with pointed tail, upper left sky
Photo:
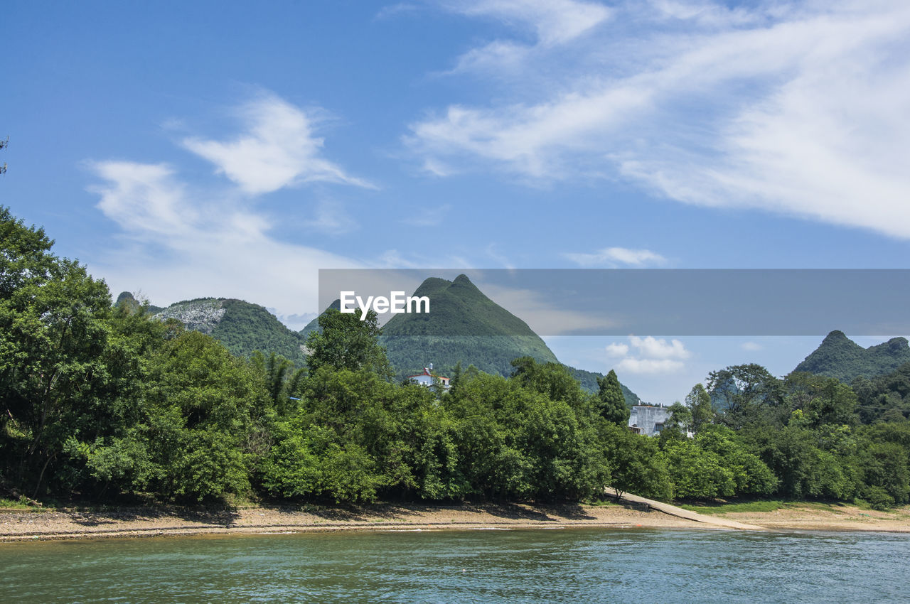
[(240, 136), (227, 141), (191, 136), (182, 144), (250, 195), (307, 182), (371, 186), (322, 156), (324, 139), (315, 136), (322, 113), (264, 95), (238, 109), (246, 126)]

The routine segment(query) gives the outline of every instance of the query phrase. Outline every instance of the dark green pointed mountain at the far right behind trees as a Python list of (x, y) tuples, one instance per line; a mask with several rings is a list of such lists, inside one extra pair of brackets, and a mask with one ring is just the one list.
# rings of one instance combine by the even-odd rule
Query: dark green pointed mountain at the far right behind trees
[(910, 362), (910, 347), (905, 337), (892, 337), (884, 344), (864, 348), (843, 331), (832, 331), (794, 371), (808, 371), (850, 383), (855, 377), (892, 373), (906, 362)]

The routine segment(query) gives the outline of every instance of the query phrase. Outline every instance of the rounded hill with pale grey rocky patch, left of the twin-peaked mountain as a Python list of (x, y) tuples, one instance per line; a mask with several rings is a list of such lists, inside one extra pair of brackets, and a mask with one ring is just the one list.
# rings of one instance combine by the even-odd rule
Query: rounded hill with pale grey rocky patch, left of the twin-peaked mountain
[(254, 350), (274, 352), (303, 367), (305, 337), (285, 327), (265, 307), (224, 297), (201, 297), (177, 302), (154, 315), (176, 318), (187, 329), (215, 337), (233, 354), (248, 357)]

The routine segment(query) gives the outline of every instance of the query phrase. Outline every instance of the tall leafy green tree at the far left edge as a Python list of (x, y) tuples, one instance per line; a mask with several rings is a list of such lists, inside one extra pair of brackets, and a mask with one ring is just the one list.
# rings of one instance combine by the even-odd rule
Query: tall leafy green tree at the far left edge
[(51, 254), (43, 229), (0, 206), (0, 440), (35, 496), (66, 464), (70, 438), (110, 429), (117, 383), (106, 356), (111, 299), (86, 267)]

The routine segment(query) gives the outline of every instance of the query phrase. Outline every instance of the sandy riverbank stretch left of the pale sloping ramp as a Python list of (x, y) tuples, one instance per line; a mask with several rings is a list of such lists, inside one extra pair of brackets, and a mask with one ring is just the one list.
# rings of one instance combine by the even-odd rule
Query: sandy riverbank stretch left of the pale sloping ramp
[(363, 508), (257, 507), (235, 510), (118, 508), (0, 511), (0, 541), (101, 539), (205, 533), (478, 528), (706, 528), (637, 506), (376, 505)]

